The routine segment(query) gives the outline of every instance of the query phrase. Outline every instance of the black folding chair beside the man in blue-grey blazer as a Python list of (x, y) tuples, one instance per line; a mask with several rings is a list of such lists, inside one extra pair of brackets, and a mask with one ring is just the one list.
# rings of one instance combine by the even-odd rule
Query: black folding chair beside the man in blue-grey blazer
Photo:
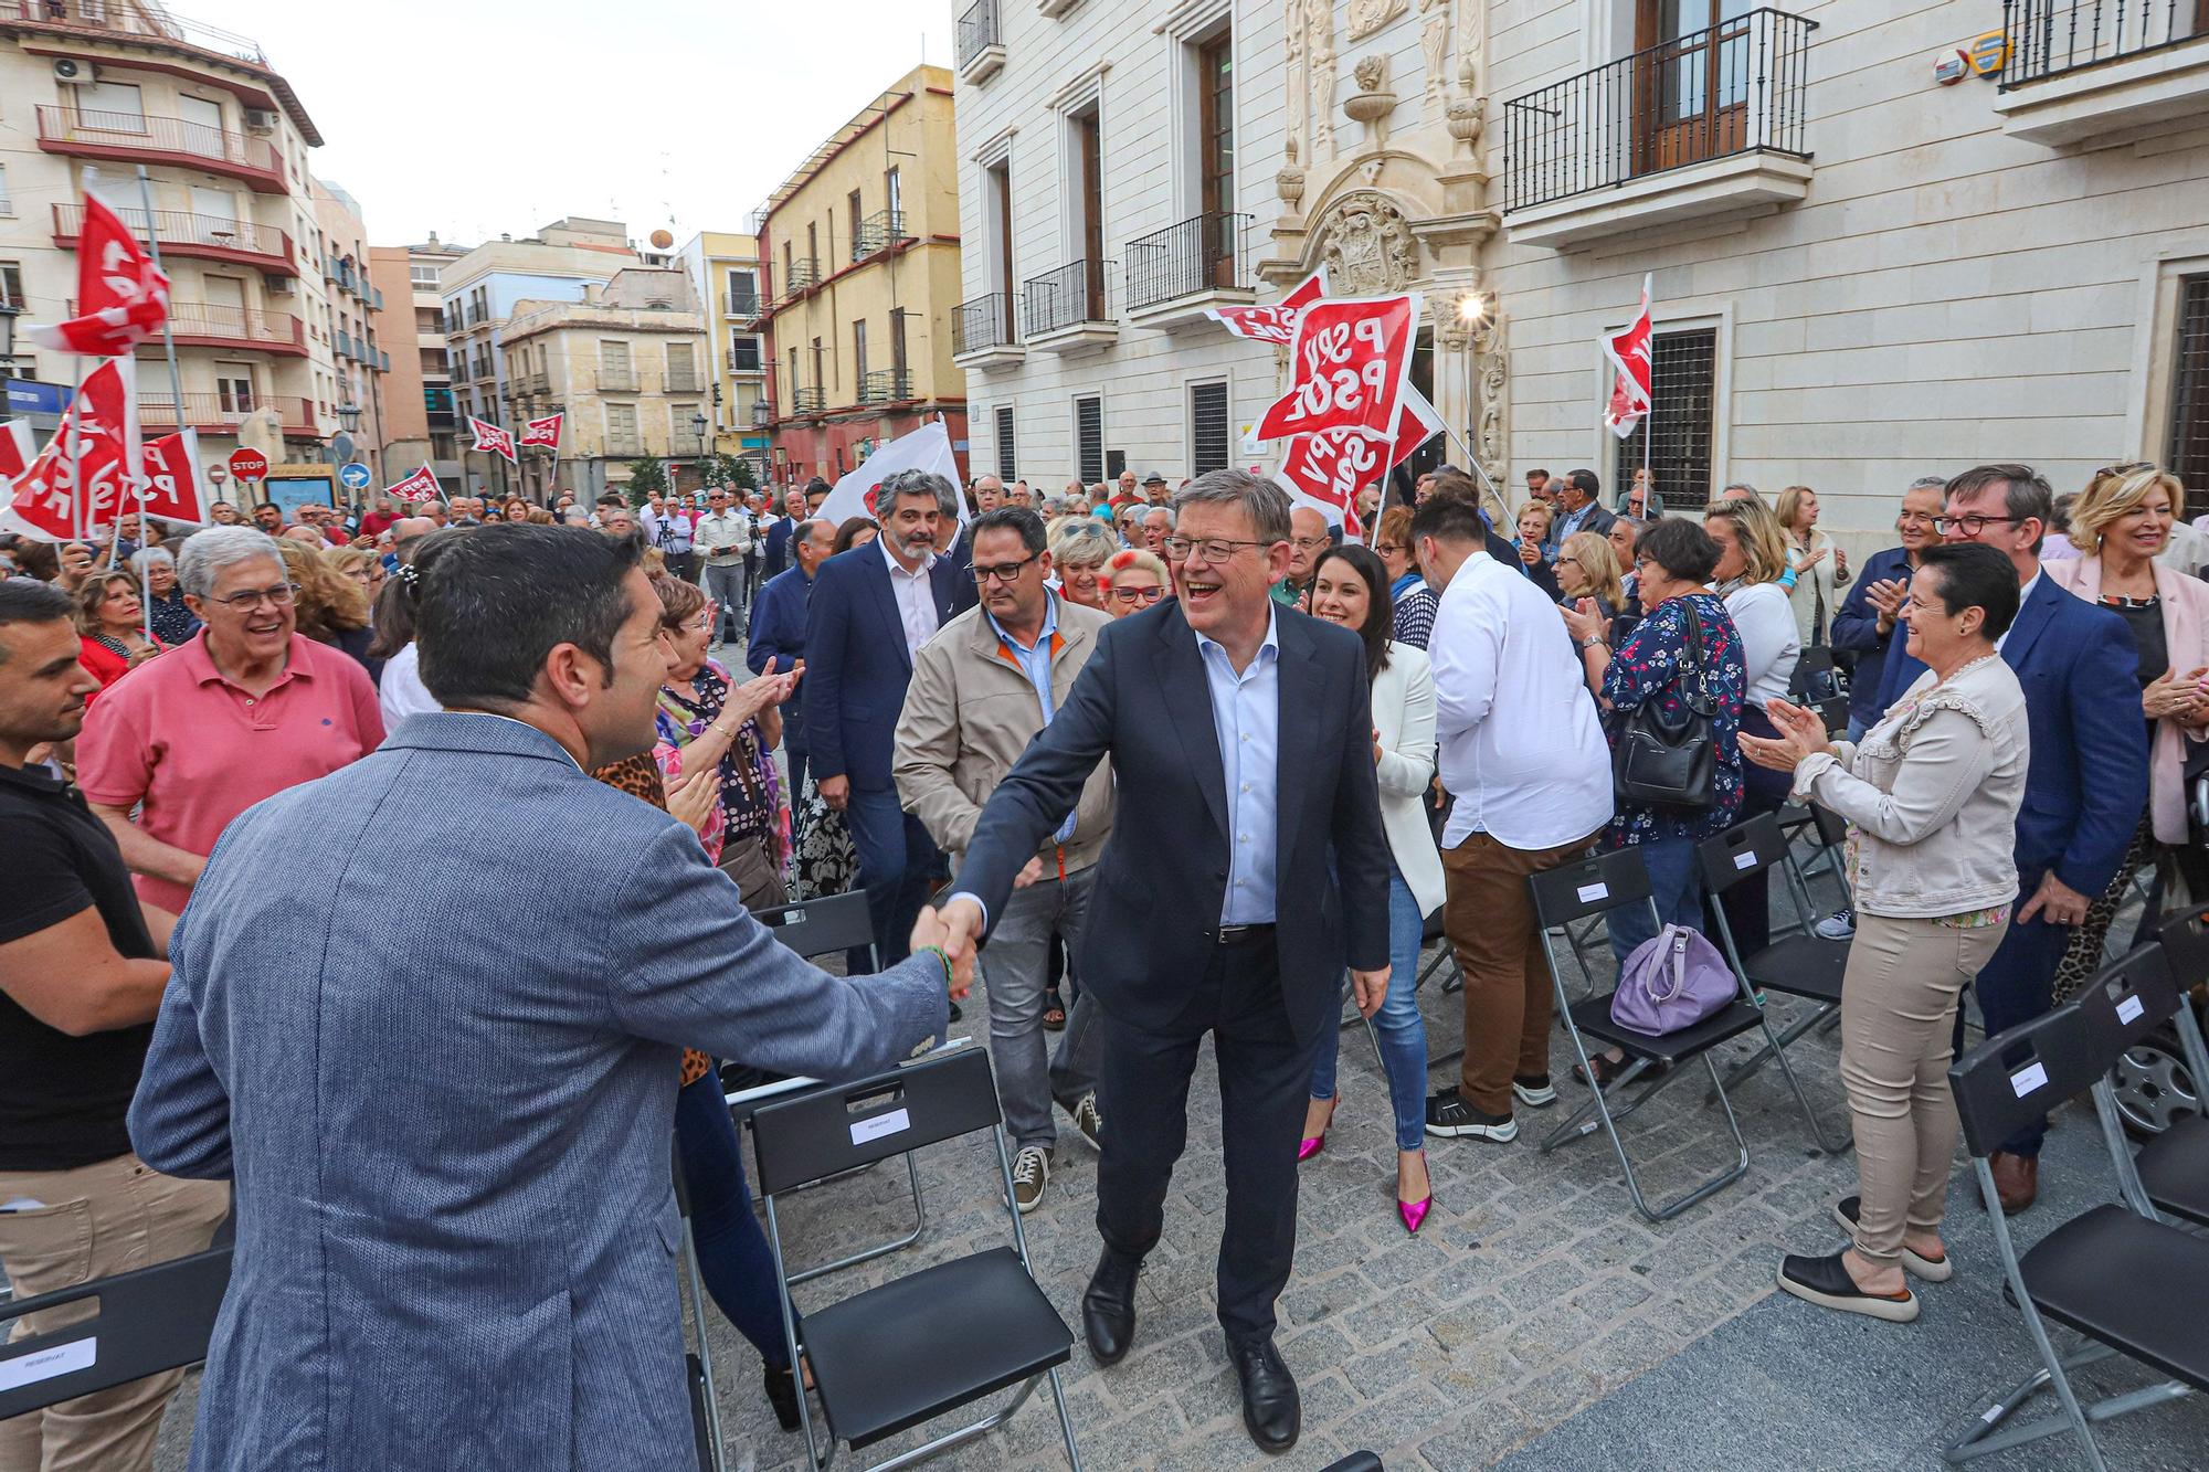
[[(815, 1468), (828, 1465), (839, 1441), (848, 1441), (857, 1452), (1018, 1386), (1010, 1403), (981, 1421), (881, 1461), (873, 1472), (937, 1457), (1003, 1426), (1036, 1384), (1049, 1379), (1067, 1463), (1080, 1472), (1074, 1419), (1067, 1415), (1065, 1386), (1058, 1377), (1058, 1366), (1074, 1355), (1074, 1333), (1036, 1286), (1027, 1262), (1027, 1233), (1012, 1205), (1012, 1156), (1001, 1125), (990, 1056), (979, 1050), (782, 1098), (751, 1116), (760, 1198), (767, 1202), (767, 1240), (780, 1280), (782, 1333), (791, 1364), (811, 1361), (813, 1386), (826, 1417), (824, 1450), (813, 1430), (811, 1397), (800, 1397), (806, 1454)], [(778, 1200), (822, 1176), (890, 1156), (910, 1156), (926, 1145), (983, 1129), (996, 1145), (998, 1182), (1014, 1244), (939, 1262), (808, 1308), (800, 1342), (791, 1286), (817, 1278), (820, 1269), (806, 1275), (789, 1271)]]

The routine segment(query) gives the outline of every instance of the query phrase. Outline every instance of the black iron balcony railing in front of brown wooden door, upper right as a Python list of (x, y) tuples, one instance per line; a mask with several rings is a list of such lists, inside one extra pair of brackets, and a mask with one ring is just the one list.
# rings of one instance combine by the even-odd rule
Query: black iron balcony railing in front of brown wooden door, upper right
[(1504, 210), (1738, 153), (1809, 157), (1816, 20), (1758, 9), (1504, 104)]

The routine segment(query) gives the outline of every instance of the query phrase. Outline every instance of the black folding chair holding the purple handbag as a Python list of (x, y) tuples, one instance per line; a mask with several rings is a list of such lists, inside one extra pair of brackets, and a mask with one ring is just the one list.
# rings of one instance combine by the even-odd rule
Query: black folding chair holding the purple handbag
[[(1619, 849), (1577, 864), (1562, 864), (1546, 873), (1529, 875), (1526, 884), (1533, 891), (1535, 919), (1542, 924), (1542, 957), (1549, 961), (1551, 984), (1557, 988), (1557, 1017), (1564, 1019), (1564, 1032), (1573, 1039), (1573, 1054), (1579, 1059), (1579, 1068), (1590, 1083), (1588, 1103), (1575, 1110), (1571, 1118), (1557, 1125), (1557, 1129), (1542, 1140), (1542, 1154), (1549, 1154), (1568, 1138), (1595, 1134), (1595, 1129), (1602, 1127), (1604, 1134), (1610, 1136), (1610, 1149), (1619, 1156), (1619, 1169), (1626, 1171), (1626, 1191), (1635, 1198), (1635, 1209), (1652, 1222), (1679, 1216), (1705, 1196), (1741, 1180), (1750, 1169), (1750, 1143), (1741, 1138), (1741, 1121), (1734, 1118), (1734, 1105), (1725, 1098), (1725, 1083), (1719, 1079), (1719, 1065), (1710, 1059), (1710, 1050), (1727, 1039), (1741, 1037), (1750, 1028), (1761, 1026), (1765, 1014), (1754, 1001), (1750, 1001), (1747, 992), (1743, 992), (1738, 1001), (1730, 1001), (1723, 1010), (1692, 1028), (1650, 1037), (1610, 1021), (1613, 992), (1588, 997), (1584, 1001), (1566, 997), (1564, 968), (1557, 966), (1557, 948), (1551, 942), (1551, 930), (1571, 926), (1573, 922), (1590, 915), (1621, 911), (1628, 904), (1646, 904), (1650, 917), (1661, 919), (1657, 902), (1650, 897), (1648, 869), (1641, 864), (1641, 855), (1635, 849)], [(1681, 1079), (1685, 1070), (1668, 1068), (1668, 1072), (1650, 1081), (1648, 1087), (1643, 1087), (1624, 1110), (1613, 1112), (1610, 1103), (1604, 1098), (1606, 1090), (1593, 1087), (1595, 1070), (1588, 1063), (1586, 1043), (1590, 1037), (1597, 1045), (1619, 1048), (1628, 1056), (1626, 1070), (1610, 1081), (1608, 1092), (1624, 1092), (1626, 1085), (1646, 1074), (1655, 1063), (1674, 1065), (1685, 1063), (1688, 1059), (1703, 1059), (1703, 1068), (1710, 1072), (1710, 1087), (1716, 1092), (1719, 1107), (1725, 1110), (1725, 1127), (1734, 1136), (1734, 1165), (1730, 1169), (1721, 1169), (1716, 1176), (1703, 1180), (1677, 1200), (1670, 1200), (1663, 1207), (1650, 1207), (1641, 1196), (1641, 1182), (1635, 1178), (1635, 1163), (1626, 1156), (1626, 1143), (1619, 1138), (1617, 1121), (1646, 1105), (1659, 1090)], [(1588, 1114), (1595, 1114), (1595, 1118), (1588, 1118)]]

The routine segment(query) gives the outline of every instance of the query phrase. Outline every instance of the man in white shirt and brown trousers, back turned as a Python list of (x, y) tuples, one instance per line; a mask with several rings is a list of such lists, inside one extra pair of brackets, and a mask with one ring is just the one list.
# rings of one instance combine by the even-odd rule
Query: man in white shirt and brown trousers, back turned
[(1427, 1134), (1518, 1138), (1511, 1101), (1555, 1103), (1553, 992), (1526, 875), (1582, 858), (1610, 822), (1610, 749), (1557, 608), (1482, 550), (1471, 502), (1429, 497), (1412, 546), (1442, 590), (1434, 661), (1442, 789), (1442, 933), (1465, 972), (1458, 1087), (1427, 1101)]

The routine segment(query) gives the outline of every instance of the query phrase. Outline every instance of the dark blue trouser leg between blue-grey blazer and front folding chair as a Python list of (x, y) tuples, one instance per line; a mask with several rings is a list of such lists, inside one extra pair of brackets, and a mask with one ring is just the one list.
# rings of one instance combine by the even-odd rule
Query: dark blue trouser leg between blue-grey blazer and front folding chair
[(714, 1304), (751, 1339), (760, 1359), (791, 1368), (782, 1339), (782, 1297), (767, 1233), (751, 1216), (744, 1187), (744, 1147), (720, 1092), (720, 1076), (707, 1074), (676, 1094), (676, 1154), (691, 1198), (691, 1238), (698, 1242), (698, 1275)]

